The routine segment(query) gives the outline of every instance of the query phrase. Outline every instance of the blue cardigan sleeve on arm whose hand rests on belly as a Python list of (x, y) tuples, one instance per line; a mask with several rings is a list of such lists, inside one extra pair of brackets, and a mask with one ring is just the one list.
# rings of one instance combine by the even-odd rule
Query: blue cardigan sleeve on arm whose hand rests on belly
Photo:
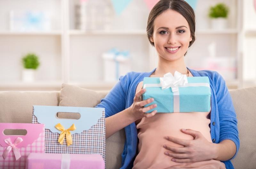
[[(215, 92), (220, 119), (220, 142), (229, 139), (236, 144), (236, 154), (240, 147), (235, 108), (225, 80), (216, 72)], [(231, 158), (235, 158), (236, 154)]]

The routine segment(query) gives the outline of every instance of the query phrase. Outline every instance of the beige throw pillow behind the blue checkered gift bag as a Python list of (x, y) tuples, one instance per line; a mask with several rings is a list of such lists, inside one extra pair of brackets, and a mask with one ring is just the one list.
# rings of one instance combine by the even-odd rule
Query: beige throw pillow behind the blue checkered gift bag
[[(108, 94), (108, 91), (94, 91), (77, 86), (62, 84), (60, 90), (59, 106), (73, 107), (95, 107), (101, 99)], [(58, 113), (60, 118), (77, 118), (67, 113)], [(106, 140), (106, 168), (116, 169), (121, 167), (121, 154), (124, 148), (125, 132), (119, 130)]]

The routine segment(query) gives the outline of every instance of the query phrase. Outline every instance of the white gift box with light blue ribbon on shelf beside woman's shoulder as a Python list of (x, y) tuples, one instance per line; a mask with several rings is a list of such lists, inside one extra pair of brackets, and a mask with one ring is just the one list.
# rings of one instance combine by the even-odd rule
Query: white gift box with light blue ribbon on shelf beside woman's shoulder
[(104, 81), (118, 81), (119, 76), (131, 71), (131, 57), (128, 51), (119, 52), (116, 48), (102, 54)]

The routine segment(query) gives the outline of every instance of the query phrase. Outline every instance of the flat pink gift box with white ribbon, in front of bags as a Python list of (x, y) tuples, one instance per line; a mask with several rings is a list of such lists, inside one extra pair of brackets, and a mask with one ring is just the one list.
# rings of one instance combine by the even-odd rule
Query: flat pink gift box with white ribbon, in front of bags
[(100, 154), (30, 153), (27, 169), (104, 169)]

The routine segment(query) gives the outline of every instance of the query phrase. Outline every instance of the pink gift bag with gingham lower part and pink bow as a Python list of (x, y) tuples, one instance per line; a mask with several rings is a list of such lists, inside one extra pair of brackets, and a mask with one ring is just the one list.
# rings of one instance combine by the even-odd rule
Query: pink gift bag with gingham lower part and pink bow
[[(26, 135), (5, 135), (6, 129), (26, 130)], [(31, 152), (44, 152), (44, 124), (0, 123), (0, 168), (24, 169)]]

